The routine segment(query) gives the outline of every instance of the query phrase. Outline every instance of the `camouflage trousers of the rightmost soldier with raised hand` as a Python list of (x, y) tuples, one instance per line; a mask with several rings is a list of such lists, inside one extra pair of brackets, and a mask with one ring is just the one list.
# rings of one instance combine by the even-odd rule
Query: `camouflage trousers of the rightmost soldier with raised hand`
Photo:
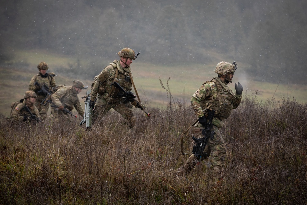
[[(216, 178), (218, 178), (220, 177), (223, 166), (225, 165), (226, 145), (219, 129), (216, 126), (213, 126), (212, 129), (215, 131), (214, 137), (213, 139), (209, 138), (204, 152), (206, 152), (207, 156), (209, 156), (211, 153), (214, 175)], [(202, 157), (201, 159), (204, 160), (206, 157)], [(183, 165), (183, 171), (185, 173), (191, 171), (192, 167), (194, 167), (197, 162), (198, 160), (194, 154), (192, 154)]]

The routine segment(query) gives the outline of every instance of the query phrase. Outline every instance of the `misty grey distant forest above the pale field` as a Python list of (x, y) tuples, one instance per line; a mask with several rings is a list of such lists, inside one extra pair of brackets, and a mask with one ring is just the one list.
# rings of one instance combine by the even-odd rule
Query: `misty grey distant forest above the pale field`
[(0, 64), (14, 49), (154, 64), (243, 62), (256, 80), (306, 83), (307, 1), (0, 1)]

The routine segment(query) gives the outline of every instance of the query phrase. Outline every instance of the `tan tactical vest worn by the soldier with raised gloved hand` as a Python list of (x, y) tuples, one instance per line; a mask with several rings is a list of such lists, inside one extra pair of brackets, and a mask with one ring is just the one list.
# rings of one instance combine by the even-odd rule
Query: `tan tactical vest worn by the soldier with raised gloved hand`
[(207, 81), (204, 84), (208, 82), (215, 83), (217, 88), (217, 97), (211, 100), (202, 101), (200, 106), (202, 108), (215, 110), (214, 117), (219, 117), (221, 120), (226, 119), (231, 114), (233, 107), (231, 102), (234, 100), (235, 95), (231, 90), (224, 91), (222, 85), (220, 85), (220, 83), (215, 79)]

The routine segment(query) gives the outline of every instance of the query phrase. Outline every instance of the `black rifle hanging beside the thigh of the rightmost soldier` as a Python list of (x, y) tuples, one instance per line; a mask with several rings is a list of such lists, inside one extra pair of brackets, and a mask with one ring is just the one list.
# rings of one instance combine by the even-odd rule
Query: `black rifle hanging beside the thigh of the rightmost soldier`
[(204, 149), (208, 143), (209, 138), (213, 139), (213, 136), (215, 134), (215, 131), (211, 130), (213, 127), (212, 120), (215, 110), (207, 109), (207, 111), (208, 111), (207, 123), (205, 124), (203, 129), (199, 130), (203, 135), (203, 137), (197, 139), (196, 137), (192, 136), (192, 139), (195, 141), (192, 153), (194, 154), (194, 156), (196, 156), (198, 160), (201, 160), (202, 157), (207, 157), (210, 155), (210, 153), (204, 153)]

